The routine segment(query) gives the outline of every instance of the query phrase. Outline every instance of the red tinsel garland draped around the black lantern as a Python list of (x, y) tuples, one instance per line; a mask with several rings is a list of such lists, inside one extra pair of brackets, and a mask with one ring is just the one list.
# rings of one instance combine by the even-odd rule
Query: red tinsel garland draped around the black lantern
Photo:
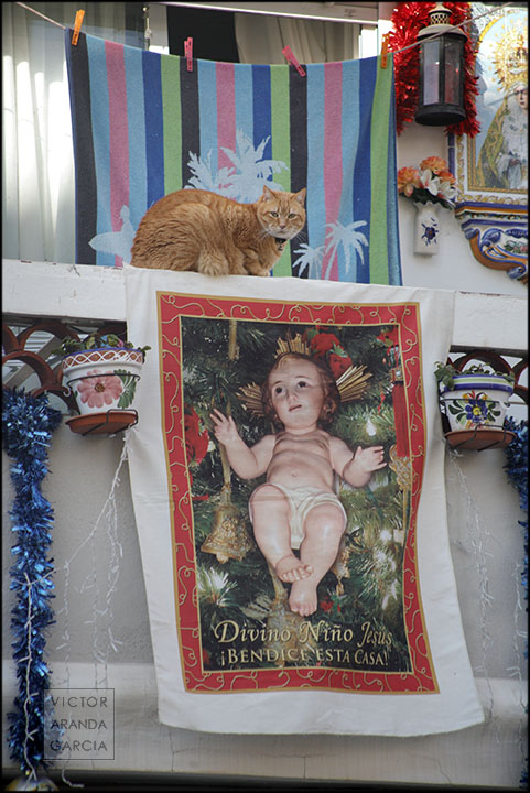
[[(433, 2), (400, 2), (392, 12), (393, 29), (389, 33), (388, 48), (396, 53), (393, 56), (396, 80), (396, 126), (397, 132), (403, 131), (403, 124), (414, 120), (418, 107), (418, 89), (420, 83), (419, 46), (398, 52), (417, 41), (418, 33), (429, 24), (429, 11), (434, 8)], [(472, 19), (470, 4), (467, 2), (444, 2), (451, 12), (451, 24), (457, 25)], [(466, 34), (464, 44), (465, 79), (464, 79), (464, 109), (466, 119), (459, 124), (452, 124), (446, 132), (467, 134), (474, 138), (480, 129), (475, 97), (478, 94), (478, 77), (475, 75), (476, 48), (469, 35), (469, 25), (461, 28)]]

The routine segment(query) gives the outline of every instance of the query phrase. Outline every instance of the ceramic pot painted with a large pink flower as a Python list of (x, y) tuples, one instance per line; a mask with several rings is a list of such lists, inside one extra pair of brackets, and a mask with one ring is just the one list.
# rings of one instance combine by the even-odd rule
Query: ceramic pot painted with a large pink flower
[(63, 381), (79, 413), (127, 410), (132, 404), (143, 365), (138, 349), (104, 348), (72, 352), (63, 359)]

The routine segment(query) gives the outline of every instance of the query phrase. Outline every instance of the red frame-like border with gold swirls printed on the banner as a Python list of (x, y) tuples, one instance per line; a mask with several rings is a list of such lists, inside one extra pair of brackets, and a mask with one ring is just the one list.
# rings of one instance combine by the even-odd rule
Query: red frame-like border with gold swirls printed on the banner
[[(418, 580), (415, 526), (422, 488), (425, 419), (421, 382), (420, 309), (417, 303), (286, 303), (159, 292), (163, 430), (174, 532), (175, 602), (186, 691), (229, 693), (317, 688), (367, 694), (429, 694), (437, 691)], [(324, 667), (203, 670), (196, 597), (193, 509), (185, 461), (181, 317), (326, 325), (389, 325), (400, 332), (412, 465), (411, 512), (403, 556), (403, 615), (412, 672), (366, 672)]]

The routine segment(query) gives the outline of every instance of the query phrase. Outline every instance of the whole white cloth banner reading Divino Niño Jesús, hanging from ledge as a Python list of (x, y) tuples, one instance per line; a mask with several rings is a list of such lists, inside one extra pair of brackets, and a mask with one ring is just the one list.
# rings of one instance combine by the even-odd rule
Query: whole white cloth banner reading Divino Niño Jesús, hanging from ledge
[(128, 338), (151, 346), (128, 443), (160, 720), (388, 736), (483, 721), (434, 378), (454, 294), (125, 278)]

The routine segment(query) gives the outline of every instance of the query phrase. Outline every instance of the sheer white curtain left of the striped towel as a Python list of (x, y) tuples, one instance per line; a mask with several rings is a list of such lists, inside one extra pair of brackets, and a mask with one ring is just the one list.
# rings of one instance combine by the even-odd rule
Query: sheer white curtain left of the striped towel
[[(79, 3), (35, 9), (74, 26)], [(83, 31), (125, 42), (126, 3), (83, 3)], [(73, 262), (74, 155), (64, 31), (2, 3), (2, 257)]]

